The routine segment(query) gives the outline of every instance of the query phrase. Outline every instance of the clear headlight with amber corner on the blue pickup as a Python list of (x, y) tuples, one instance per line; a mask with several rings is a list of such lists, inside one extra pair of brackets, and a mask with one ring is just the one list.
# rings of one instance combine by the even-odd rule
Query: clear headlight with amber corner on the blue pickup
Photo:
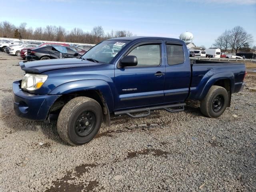
[(21, 81), (21, 88), (23, 90), (34, 91), (42, 87), (47, 78), (48, 75), (27, 73)]

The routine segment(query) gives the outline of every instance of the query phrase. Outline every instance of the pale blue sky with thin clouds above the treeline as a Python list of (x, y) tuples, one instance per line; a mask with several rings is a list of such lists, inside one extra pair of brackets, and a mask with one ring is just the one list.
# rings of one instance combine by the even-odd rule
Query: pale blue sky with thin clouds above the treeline
[(256, 0), (8, 0), (0, 22), (28, 27), (62, 26), (66, 30), (128, 30), (137, 36), (178, 38), (194, 35), (196, 46), (212, 46), (226, 29), (242, 26), (256, 45)]

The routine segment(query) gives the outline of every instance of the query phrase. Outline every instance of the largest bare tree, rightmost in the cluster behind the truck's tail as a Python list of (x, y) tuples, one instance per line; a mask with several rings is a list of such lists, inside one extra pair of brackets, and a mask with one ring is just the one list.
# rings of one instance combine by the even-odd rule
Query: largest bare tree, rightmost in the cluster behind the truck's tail
[(239, 48), (243, 46), (249, 46), (253, 42), (253, 37), (251, 34), (248, 34), (244, 28), (241, 26), (235, 26), (230, 32), (230, 46), (232, 51), (235, 50), (236, 53)]

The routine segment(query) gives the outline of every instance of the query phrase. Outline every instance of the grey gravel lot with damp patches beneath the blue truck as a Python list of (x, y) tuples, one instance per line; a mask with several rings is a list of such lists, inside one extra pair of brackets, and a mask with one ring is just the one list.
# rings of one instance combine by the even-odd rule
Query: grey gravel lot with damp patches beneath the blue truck
[[(0, 52), (0, 192), (256, 191), (256, 76), (220, 118), (186, 110), (112, 117), (90, 143), (62, 142), (56, 122), (15, 116), (11, 85), (18, 57)], [(167, 128), (129, 130), (136, 124)]]

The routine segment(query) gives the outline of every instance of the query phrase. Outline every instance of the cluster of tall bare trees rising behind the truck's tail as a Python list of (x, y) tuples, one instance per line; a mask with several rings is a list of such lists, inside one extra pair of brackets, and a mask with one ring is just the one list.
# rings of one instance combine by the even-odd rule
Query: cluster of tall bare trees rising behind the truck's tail
[(238, 50), (243, 50), (245, 52), (250, 52), (250, 44), (253, 42), (253, 37), (248, 34), (244, 28), (241, 26), (235, 26), (231, 30), (225, 30), (214, 42), (214, 46), (220, 48), (221, 50), (231, 52)]

